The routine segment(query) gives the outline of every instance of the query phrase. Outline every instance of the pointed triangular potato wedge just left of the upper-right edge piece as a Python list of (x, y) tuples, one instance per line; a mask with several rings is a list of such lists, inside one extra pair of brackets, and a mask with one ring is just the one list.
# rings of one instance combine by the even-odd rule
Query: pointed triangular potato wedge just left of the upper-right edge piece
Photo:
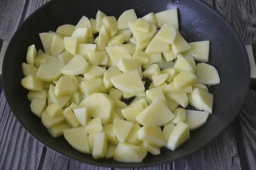
[(186, 52), (189, 49), (191, 49), (191, 46), (189, 43), (186, 42), (186, 40), (180, 35), (180, 32), (176, 32), (176, 37), (173, 42), (172, 46), (172, 51), (177, 55), (182, 52)]

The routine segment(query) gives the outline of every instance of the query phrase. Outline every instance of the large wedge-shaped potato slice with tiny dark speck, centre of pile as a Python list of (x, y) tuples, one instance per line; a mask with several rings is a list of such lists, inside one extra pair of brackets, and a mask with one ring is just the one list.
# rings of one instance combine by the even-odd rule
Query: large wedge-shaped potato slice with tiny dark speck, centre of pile
[(134, 95), (145, 92), (145, 87), (141, 81), (137, 69), (113, 76), (111, 77), (111, 82), (113, 83), (116, 89), (119, 89), (122, 92)]

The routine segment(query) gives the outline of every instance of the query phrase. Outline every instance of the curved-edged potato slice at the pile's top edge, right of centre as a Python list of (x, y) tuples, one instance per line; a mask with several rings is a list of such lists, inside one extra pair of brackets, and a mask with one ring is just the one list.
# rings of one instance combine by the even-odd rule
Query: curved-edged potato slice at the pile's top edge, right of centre
[(117, 20), (118, 30), (128, 29), (128, 21), (137, 21), (138, 18), (134, 9), (129, 9), (123, 12)]

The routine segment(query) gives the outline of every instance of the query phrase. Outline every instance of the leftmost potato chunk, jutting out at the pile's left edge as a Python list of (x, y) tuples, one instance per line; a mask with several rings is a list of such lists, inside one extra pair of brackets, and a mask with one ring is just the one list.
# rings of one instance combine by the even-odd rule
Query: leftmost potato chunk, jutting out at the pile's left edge
[(33, 75), (29, 75), (21, 79), (21, 85), (30, 91), (41, 91), (43, 89), (43, 81), (38, 80)]

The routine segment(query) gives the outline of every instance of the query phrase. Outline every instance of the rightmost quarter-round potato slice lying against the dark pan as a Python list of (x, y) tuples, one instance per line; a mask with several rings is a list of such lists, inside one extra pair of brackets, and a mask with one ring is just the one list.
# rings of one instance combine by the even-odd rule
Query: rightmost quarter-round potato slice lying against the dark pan
[(215, 67), (207, 63), (198, 63), (196, 75), (198, 84), (215, 85), (221, 82)]

